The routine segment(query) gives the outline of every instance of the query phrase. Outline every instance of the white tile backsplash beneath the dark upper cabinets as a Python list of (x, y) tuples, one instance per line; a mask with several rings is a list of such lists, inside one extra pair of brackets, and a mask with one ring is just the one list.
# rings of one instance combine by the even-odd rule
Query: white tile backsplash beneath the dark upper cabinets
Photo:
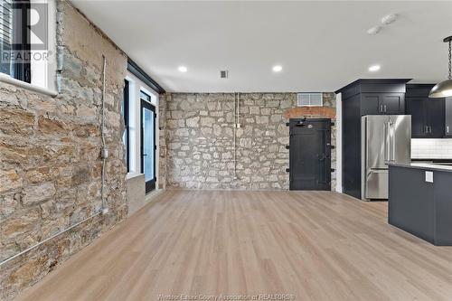
[(452, 139), (411, 139), (412, 159), (452, 159)]

